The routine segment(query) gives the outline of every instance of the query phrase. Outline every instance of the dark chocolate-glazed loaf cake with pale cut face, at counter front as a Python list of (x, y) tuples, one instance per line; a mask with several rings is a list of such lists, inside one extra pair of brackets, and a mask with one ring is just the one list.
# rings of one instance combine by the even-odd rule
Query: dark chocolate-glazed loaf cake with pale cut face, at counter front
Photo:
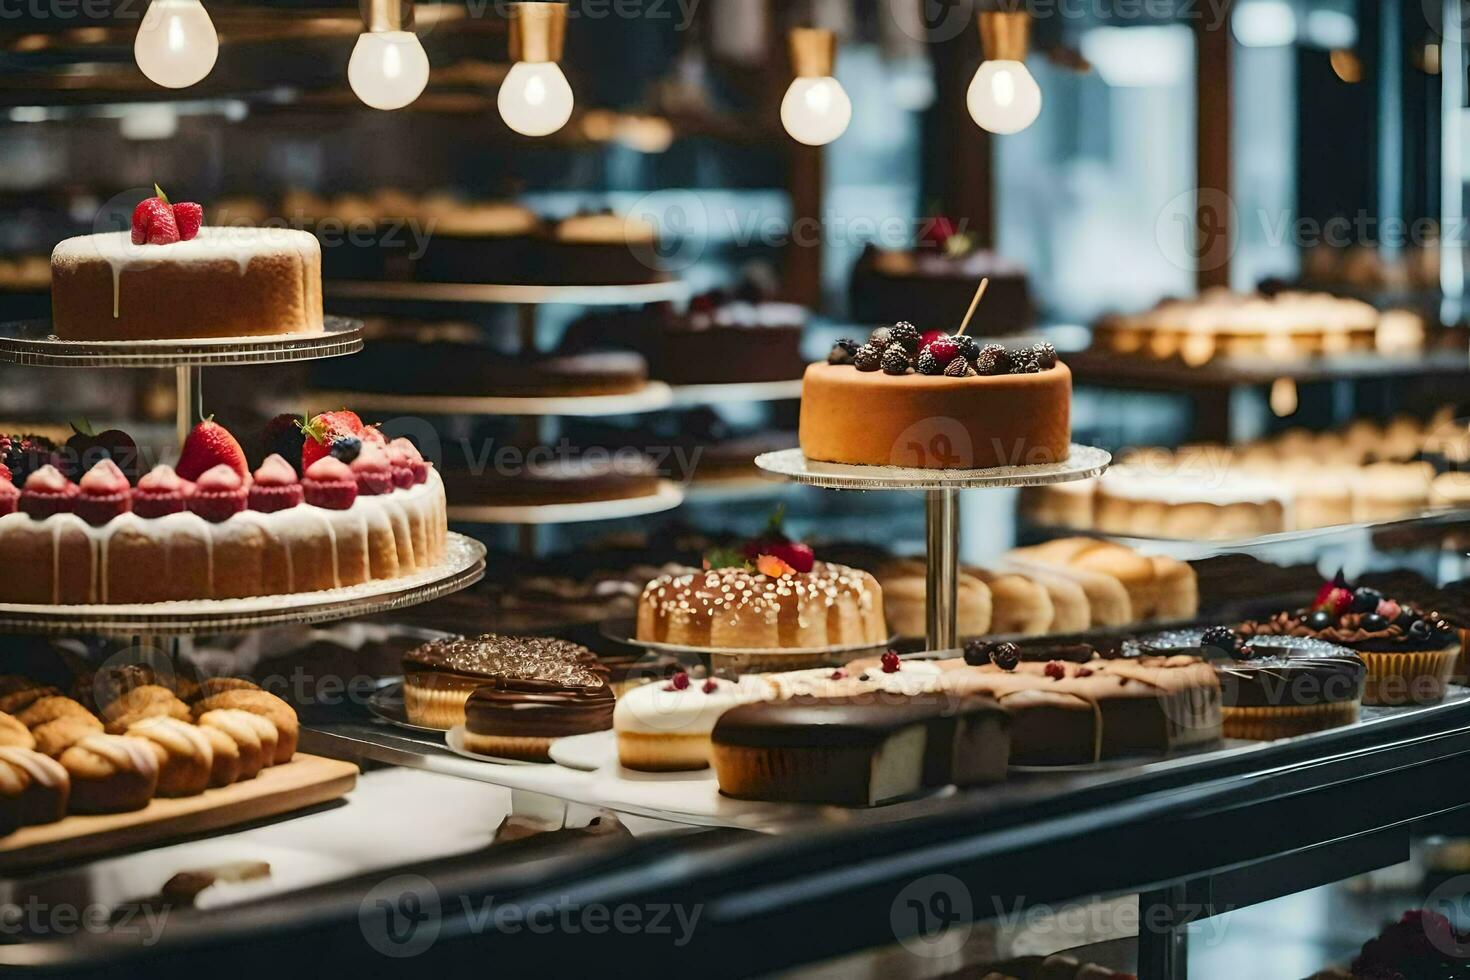
[(876, 807), (1005, 777), (1010, 717), (994, 698), (788, 698), (731, 708), (711, 735), (720, 792)]

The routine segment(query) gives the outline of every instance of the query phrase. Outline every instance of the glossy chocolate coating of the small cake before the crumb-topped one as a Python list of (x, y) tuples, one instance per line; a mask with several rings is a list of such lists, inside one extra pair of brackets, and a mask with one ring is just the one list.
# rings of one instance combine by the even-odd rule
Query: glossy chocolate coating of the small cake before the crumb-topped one
[(500, 679), (476, 688), (465, 705), (473, 735), (557, 739), (613, 727), (613, 692), (597, 683)]

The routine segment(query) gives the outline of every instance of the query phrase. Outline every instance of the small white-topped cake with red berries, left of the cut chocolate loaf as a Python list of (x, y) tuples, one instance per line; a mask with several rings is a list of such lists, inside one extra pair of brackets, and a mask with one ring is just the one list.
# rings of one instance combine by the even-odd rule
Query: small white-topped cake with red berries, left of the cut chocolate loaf
[(634, 688), (617, 698), (613, 711), (617, 760), (641, 773), (709, 768), (710, 733), (720, 716), (773, 696), (775, 688), (754, 674), (725, 680), (678, 673), (664, 683)]

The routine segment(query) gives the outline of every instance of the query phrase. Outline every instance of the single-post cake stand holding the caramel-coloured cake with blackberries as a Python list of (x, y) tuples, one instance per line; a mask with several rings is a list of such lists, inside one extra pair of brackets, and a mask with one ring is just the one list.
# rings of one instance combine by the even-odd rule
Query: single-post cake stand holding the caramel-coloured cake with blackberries
[(1110, 453), (1089, 445), (1073, 445), (1061, 463), (997, 466), (983, 470), (817, 463), (803, 455), (801, 450), (782, 450), (756, 457), (756, 466), (761, 470), (806, 486), (925, 492), (929, 577), (925, 641), (929, 649), (958, 646), (960, 491), (1070, 483), (1101, 475), (1111, 461)]

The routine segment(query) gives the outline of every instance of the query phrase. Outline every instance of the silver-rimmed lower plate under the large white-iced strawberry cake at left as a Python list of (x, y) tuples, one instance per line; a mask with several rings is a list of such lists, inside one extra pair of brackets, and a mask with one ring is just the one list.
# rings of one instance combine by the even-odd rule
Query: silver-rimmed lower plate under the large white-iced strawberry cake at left
[(288, 623), (329, 623), (388, 613), (466, 589), (485, 577), (485, 545), (450, 533), (444, 560), (398, 579), (341, 589), (247, 599), (190, 599), (131, 605), (24, 605), (0, 602), (0, 632), (94, 636), (228, 633)]

